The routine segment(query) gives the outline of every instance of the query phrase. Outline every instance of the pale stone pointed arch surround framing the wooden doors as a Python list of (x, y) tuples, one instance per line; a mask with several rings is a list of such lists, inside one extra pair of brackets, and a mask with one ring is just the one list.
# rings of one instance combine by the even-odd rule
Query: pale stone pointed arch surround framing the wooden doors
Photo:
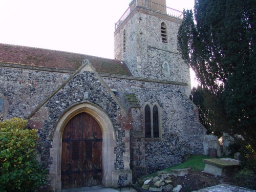
[(50, 156), (53, 163), (50, 167), (51, 188), (53, 191), (61, 191), (61, 144), (62, 133), (66, 124), (79, 113), (88, 113), (99, 124), (102, 132), (102, 185), (109, 187), (112, 185), (112, 172), (115, 170), (114, 162), (116, 155), (114, 147), (116, 147), (116, 133), (114, 126), (108, 114), (102, 109), (90, 102), (84, 102), (72, 106), (58, 120), (53, 132), (52, 147), (50, 148)]

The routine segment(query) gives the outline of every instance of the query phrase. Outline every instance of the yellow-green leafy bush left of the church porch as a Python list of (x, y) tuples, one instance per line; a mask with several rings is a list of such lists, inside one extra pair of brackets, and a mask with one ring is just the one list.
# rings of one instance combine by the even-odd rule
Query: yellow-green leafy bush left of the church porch
[(0, 191), (32, 191), (45, 184), (46, 172), (36, 160), (36, 130), (12, 118), (0, 123)]

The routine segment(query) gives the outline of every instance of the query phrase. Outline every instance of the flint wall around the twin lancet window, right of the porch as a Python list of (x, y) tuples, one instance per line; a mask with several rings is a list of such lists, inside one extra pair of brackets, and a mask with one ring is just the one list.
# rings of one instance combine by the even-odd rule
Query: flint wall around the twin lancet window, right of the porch
[[(141, 159), (145, 156), (147, 171), (152, 173), (180, 163), (185, 154), (203, 154), (205, 129), (198, 121), (197, 108), (184, 94), (186, 86), (114, 77), (104, 77), (103, 80), (117, 90), (118, 98), (134, 94), (141, 111), (147, 102), (157, 103), (161, 108), (162, 138), (142, 138), (144, 145), (134, 145), (133, 150), (141, 155), (134, 165), (143, 165)], [(144, 129), (143, 113), (140, 126), (136, 129)], [(144, 154), (141, 153), (143, 147)]]

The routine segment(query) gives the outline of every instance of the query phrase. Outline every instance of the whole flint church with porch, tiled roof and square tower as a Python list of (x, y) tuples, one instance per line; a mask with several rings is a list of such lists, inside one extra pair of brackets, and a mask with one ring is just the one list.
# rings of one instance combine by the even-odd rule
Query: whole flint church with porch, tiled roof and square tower
[(181, 22), (165, 0), (131, 1), (115, 24), (115, 59), (0, 44), (0, 112), (38, 130), (48, 191), (128, 185), (203, 154)]

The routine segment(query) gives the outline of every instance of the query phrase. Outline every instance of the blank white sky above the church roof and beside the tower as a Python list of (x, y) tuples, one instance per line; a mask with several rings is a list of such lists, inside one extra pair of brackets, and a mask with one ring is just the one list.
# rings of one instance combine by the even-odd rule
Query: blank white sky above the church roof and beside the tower
[[(115, 23), (130, 0), (0, 0), (0, 43), (114, 58)], [(166, 0), (193, 9), (194, 0)]]

